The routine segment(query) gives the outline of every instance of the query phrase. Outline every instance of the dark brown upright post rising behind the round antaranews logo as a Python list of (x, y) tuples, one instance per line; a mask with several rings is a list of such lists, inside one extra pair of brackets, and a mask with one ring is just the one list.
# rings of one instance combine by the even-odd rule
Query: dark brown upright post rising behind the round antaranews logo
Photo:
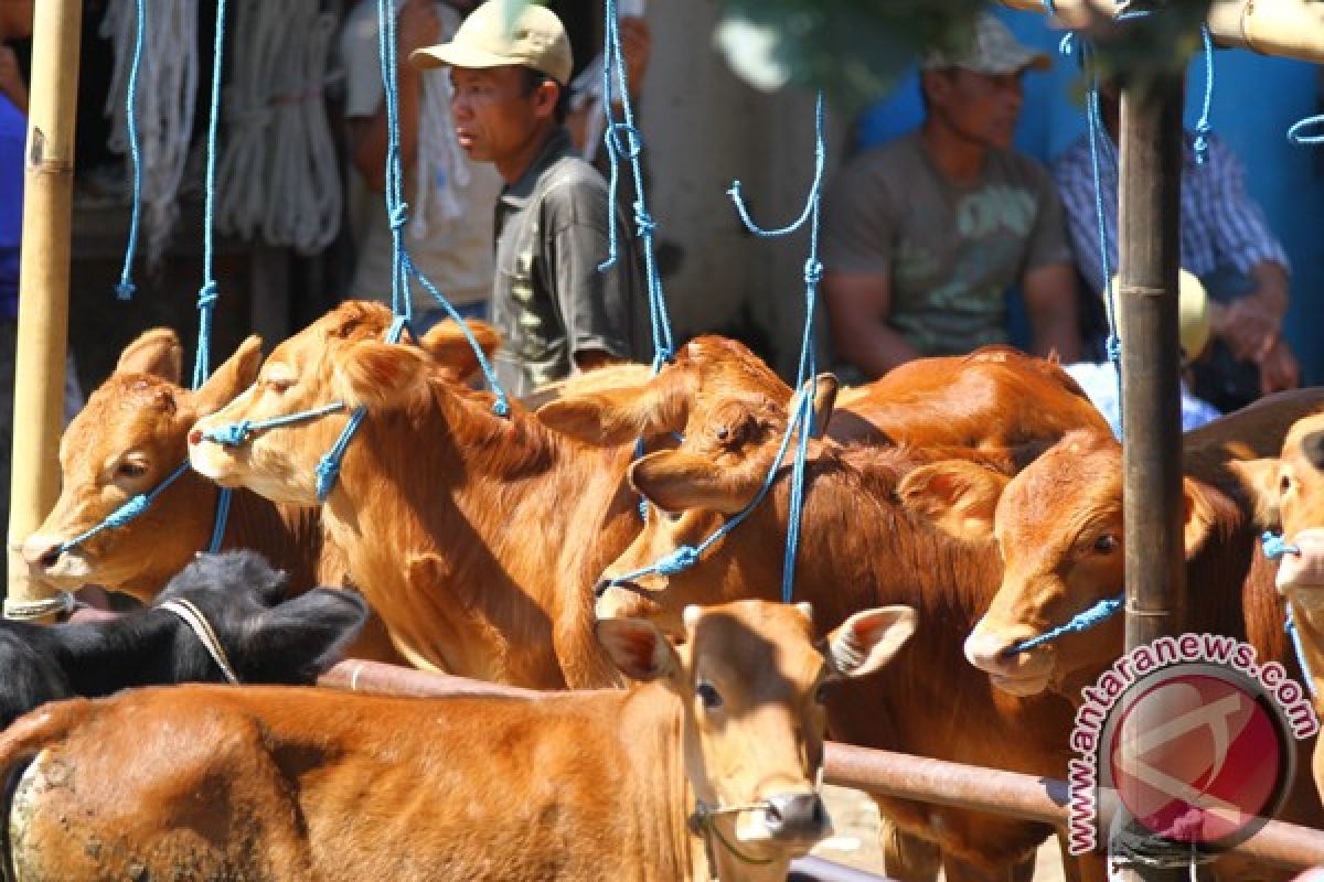
[[(1184, 87), (1178, 69), (1121, 91), (1117, 287), (1128, 651), (1174, 633), (1186, 600), (1177, 333)], [(1131, 739), (1123, 735), (1125, 756)], [(1136, 873), (1132, 878), (1147, 881), (1189, 878), (1185, 869)]]

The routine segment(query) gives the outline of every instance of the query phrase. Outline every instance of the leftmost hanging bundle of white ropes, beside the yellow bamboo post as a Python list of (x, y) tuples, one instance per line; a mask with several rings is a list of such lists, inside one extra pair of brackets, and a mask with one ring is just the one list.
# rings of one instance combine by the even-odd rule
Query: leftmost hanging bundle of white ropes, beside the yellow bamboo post
[[(197, 4), (166, 0), (146, 4), (142, 66), (138, 73), (138, 141), (142, 157), (143, 254), (156, 266), (179, 221), (179, 188), (188, 164), (197, 100)], [(128, 152), (126, 99), (134, 62), (138, 11), (134, 0), (111, 0), (99, 34), (111, 40), (115, 66), (105, 114), (111, 120), (107, 145)], [(128, 188), (126, 175), (126, 193)]]

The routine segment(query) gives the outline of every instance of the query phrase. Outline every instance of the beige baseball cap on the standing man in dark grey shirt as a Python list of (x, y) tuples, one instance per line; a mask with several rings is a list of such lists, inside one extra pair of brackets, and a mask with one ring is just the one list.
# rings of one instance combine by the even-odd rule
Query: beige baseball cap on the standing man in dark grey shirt
[(563, 86), (571, 81), (571, 41), (556, 13), (518, 0), (487, 0), (469, 13), (450, 42), (416, 49), (414, 67), (504, 67), (520, 65), (547, 74)]

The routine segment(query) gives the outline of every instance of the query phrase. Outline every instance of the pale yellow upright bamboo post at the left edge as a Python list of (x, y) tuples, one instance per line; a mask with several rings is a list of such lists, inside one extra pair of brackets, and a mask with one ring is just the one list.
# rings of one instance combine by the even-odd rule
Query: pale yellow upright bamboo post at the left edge
[(69, 336), (69, 229), (82, 3), (44, 0), (33, 24), (15, 354), (9, 603), (52, 596), (48, 587), (28, 578), (16, 543), (41, 525), (60, 495), (57, 451), (64, 428)]

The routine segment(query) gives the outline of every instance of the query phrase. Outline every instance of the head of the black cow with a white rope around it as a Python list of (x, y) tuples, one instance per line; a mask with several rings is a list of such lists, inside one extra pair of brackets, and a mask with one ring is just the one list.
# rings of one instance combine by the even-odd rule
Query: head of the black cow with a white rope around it
[[(338, 588), (312, 588), (286, 600), (285, 588), (285, 574), (256, 551), (200, 554), (169, 581), (155, 606), (191, 603), (240, 682), (311, 684), (340, 660), (368, 618), (368, 604)], [(158, 680), (220, 682), (220, 668), (197, 635), (183, 621), (175, 624), (173, 651), (156, 660), (169, 670)]]

